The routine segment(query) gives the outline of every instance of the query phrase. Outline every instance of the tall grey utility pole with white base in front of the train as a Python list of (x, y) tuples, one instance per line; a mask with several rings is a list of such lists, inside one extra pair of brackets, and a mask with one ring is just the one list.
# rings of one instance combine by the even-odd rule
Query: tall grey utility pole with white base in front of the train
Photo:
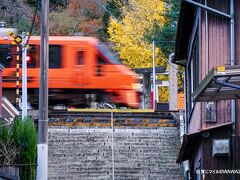
[(48, 15), (49, 0), (41, 0), (40, 91), (37, 180), (48, 179)]

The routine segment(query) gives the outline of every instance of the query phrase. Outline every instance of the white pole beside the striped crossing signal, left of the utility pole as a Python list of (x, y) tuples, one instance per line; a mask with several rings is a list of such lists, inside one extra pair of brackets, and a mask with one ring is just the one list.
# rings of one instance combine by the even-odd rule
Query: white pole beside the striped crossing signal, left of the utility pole
[(22, 120), (27, 116), (27, 48), (26, 33), (22, 33)]

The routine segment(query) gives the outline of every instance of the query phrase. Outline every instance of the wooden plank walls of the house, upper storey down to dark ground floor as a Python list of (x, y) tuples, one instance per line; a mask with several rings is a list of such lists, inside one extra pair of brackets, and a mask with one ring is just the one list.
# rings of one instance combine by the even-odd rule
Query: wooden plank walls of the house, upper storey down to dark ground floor
[[(228, 13), (230, 10), (229, 0), (206, 0), (209, 7)], [(201, 0), (204, 3), (205, 0)], [(240, 65), (240, 2), (235, 0), (235, 62)], [(230, 65), (230, 20), (228, 18), (207, 13), (208, 26), (206, 26), (206, 11), (202, 10), (200, 15), (199, 37), (200, 41), (200, 71), (201, 80), (205, 78), (212, 67)], [(207, 40), (208, 39), (208, 40)], [(226, 122), (231, 122), (230, 100), (217, 101), (217, 122), (206, 123), (205, 106), (206, 102), (195, 103), (189, 124), (189, 133), (200, 129), (206, 129)], [(240, 169), (240, 100), (237, 100), (237, 167)], [(201, 121), (200, 121), (201, 120)], [(201, 123), (199, 123), (201, 122)], [(231, 158), (216, 158), (212, 156), (213, 139), (231, 139), (231, 129), (212, 130), (208, 138), (204, 138), (195, 154), (194, 166), (199, 159), (199, 152), (202, 153), (201, 162), (203, 169), (232, 169)], [(200, 150), (201, 149), (201, 150)], [(215, 177), (208, 176), (208, 179), (231, 179), (231, 174), (217, 174)], [(239, 177), (240, 179), (240, 177)]]

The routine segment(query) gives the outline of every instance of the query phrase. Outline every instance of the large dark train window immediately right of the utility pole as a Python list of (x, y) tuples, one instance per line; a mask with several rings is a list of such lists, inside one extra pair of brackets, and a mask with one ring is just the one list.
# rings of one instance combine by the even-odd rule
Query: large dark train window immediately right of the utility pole
[(49, 45), (49, 68), (61, 68), (61, 49), (60, 45)]

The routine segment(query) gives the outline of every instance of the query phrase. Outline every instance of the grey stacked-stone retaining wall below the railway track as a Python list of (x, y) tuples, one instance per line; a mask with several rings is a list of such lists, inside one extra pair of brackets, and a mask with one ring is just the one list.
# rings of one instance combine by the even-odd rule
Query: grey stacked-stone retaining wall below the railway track
[[(112, 144), (113, 135), (113, 144)], [(180, 180), (177, 127), (49, 128), (49, 179)]]

